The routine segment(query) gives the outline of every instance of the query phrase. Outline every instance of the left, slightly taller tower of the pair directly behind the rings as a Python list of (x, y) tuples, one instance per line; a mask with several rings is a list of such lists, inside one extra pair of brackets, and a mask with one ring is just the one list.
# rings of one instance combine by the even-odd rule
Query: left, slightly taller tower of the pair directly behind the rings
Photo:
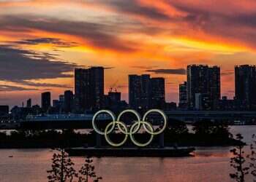
[(150, 75), (129, 75), (129, 106), (132, 108), (149, 108)]

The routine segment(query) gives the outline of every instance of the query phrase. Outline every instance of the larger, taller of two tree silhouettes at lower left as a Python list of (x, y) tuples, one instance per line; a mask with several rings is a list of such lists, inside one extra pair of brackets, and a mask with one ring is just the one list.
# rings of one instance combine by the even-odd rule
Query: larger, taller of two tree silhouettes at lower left
[(73, 178), (78, 177), (78, 173), (73, 168), (74, 163), (69, 158), (64, 149), (56, 149), (59, 151), (53, 154), (52, 169), (48, 170), (48, 182), (72, 182)]

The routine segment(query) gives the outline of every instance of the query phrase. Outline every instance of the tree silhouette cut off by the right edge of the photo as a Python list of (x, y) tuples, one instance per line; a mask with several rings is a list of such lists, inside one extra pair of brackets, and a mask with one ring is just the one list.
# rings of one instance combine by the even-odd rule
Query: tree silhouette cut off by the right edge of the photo
[(256, 182), (256, 135), (252, 135), (252, 144), (250, 146), (251, 154), (248, 158), (250, 159), (249, 167), (251, 168), (251, 174), (254, 176), (254, 182)]

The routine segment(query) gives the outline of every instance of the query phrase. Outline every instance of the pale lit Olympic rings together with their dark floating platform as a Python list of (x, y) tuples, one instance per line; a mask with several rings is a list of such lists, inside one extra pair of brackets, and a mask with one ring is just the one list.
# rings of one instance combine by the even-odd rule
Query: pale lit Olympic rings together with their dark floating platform
[[(121, 116), (124, 114), (133, 114), (135, 115), (136, 119), (133, 121), (132, 124), (125, 124), (121, 121)], [(153, 124), (147, 121), (148, 116), (151, 113), (157, 113), (162, 117), (163, 123), (159, 125), (161, 127), (157, 127), (154, 130)], [(97, 127), (97, 117), (101, 114), (104, 116), (109, 116), (108, 119), (112, 121), (108, 123), (104, 130), (99, 130)], [(190, 153), (195, 151), (194, 148), (176, 148), (176, 147), (165, 147), (164, 144), (164, 131), (167, 127), (167, 116), (165, 115), (164, 111), (159, 109), (151, 109), (147, 111), (142, 119), (140, 114), (132, 109), (127, 109), (122, 111), (116, 117), (112, 111), (109, 110), (100, 110), (94, 114), (92, 121), (92, 127), (96, 132), (97, 136), (97, 143), (101, 141), (101, 136), (105, 137), (105, 141), (110, 145), (110, 147), (102, 147), (100, 144), (97, 144), (96, 147), (78, 147), (72, 149), (66, 149), (70, 156), (94, 156), (94, 157), (188, 157), (191, 156)], [(150, 138), (145, 143), (140, 143), (135, 139), (135, 133), (140, 132), (140, 129), (143, 128), (145, 132), (150, 135)], [(115, 143), (111, 141), (109, 135), (118, 129), (118, 131), (124, 134), (124, 140), (121, 142)], [(148, 145), (151, 144), (153, 141), (154, 136), (159, 135), (159, 147), (149, 147)], [(127, 142), (127, 139), (130, 139), (134, 144), (134, 147), (123, 147), (124, 143)]]

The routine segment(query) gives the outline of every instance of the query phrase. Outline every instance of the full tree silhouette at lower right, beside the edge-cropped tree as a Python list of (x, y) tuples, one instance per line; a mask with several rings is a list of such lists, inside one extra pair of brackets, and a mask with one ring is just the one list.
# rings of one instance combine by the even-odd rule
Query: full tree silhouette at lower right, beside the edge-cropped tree
[(244, 157), (242, 135), (237, 134), (236, 139), (241, 141), (241, 144), (238, 144), (235, 149), (230, 150), (230, 152), (233, 154), (233, 157), (230, 159), (230, 166), (236, 170), (235, 173), (230, 173), (230, 178), (236, 180), (237, 182), (244, 182), (245, 175), (248, 175), (249, 173), (249, 167), (244, 167), (246, 159)]

